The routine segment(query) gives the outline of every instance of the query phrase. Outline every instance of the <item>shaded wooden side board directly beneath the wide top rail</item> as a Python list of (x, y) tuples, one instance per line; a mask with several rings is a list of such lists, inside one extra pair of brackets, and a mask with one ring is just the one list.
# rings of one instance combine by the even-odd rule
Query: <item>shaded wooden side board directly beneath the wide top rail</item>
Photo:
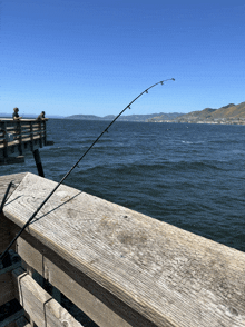
[[(31, 237), (28, 237), (28, 240), (29, 242), (32, 242), (36, 248), (33, 248), (33, 246), (27, 242), (22, 237), (19, 238), (17, 241), (18, 254), (24, 260), (24, 267), (33, 267), (35, 270), (43, 276), (43, 278), (48, 279), (51, 285), (56, 286), (66, 297), (68, 297), (76, 306), (78, 306), (85, 314), (87, 314), (87, 316), (89, 316), (98, 326), (131, 326), (112, 310), (118, 301), (117, 299), (115, 299), (115, 297), (111, 297), (110, 294), (105, 293), (101, 287), (95, 285), (95, 283), (89, 280), (89, 278), (82, 279), (79, 274), (76, 274), (74, 271), (72, 275), (76, 275), (78, 280), (80, 280), (80, 285), (76, 281), (76, 279), (71, 278), (68, 275), (71, 272), (72, 267), (70, 268), (66, 261), (63, 261), (57, 255), (50, 252), (47, 247), (45, 247), (40, 242), (37, 242), (37, 240), (31, 239)], [(47, 255), (51, 258), (52, 261), (47, 258)], [(53, 261), (60, 265), (61, 268), (55, 265)], [(95, 295), (89, 291), (91, 289), (94, 290)], [(114, 304), (111, 309), (108, 307), (108, 305), (105, 305), (102, 300), (99, 299), (98, 294), (100, 294), (101, 297), (102, 293), (105, 293), (104, 297), (106, 297), (107, 303)], [(130, 313), (130, 308), (126, 307), (124, 304), (120, 304), (120, 308), (121, 310), (125, 310), (127, 313), (127, 318), (133, 315), (133, 313)], [(135, 315), (135, 320), (138, 321), (137, 326), (144, 326), (144, 323), (145, 325), (150, 326), (150, 323), (140, 319), (140, 317), (138, 317), (137, 315)]]

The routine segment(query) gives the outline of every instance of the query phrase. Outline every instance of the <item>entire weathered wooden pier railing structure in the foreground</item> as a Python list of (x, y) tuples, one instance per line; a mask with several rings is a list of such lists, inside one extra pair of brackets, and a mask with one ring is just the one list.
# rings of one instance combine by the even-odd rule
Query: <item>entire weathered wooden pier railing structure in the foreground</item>
[[(0, 200), (11, 180), (0, 252), (56, 186), (30, 172), (3, 176)], [(0, 289), (0, 306), (20, 304), (0, 327), (81, 326), (59, 291), (102, 327), (245, 326), (244, 252), (67, 186), (17, 240)]]

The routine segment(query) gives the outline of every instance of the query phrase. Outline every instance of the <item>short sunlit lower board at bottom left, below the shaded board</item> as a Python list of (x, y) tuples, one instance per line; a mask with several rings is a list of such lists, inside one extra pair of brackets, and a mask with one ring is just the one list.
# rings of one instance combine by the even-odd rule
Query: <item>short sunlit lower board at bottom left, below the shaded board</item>
[(22, 268), (12, 271), (19, 301), (39, 327), (80, 327), (81, 325), (45, 291)]

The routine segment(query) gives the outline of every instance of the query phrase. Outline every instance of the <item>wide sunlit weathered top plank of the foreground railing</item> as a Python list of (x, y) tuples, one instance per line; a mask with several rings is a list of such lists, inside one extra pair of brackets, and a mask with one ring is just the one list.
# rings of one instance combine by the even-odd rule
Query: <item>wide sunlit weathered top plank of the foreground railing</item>
[[(22, 226), (55, 186), (28, 174), (4, 215)], [(27, 231), (156, 326), (245, 326), (244, 252), (66, 186)]]

